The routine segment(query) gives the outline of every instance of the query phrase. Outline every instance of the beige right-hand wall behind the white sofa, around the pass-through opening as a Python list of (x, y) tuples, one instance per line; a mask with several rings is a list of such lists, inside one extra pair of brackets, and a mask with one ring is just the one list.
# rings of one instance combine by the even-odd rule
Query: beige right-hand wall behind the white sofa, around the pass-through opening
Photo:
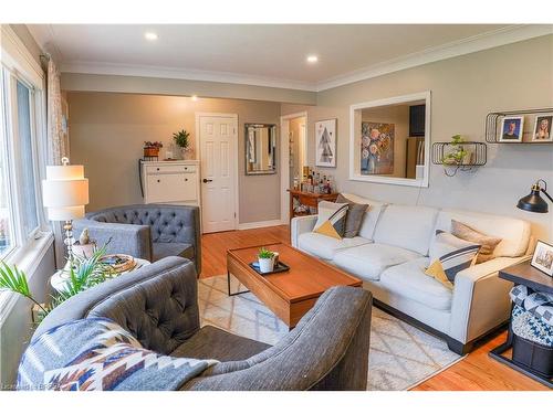
[[(553, 240), (553, 213), (531, 214), (515, 208), (543, 178), (553, 185), (553, 145), (489, 145), (488, 163), (473, 172), (444, 174), (430, 166), (430, 187), (348, 180), (349, 105), (431, 91), (432, 142), (455, 134), (484, 140), (486, 115), (493, 110), (553, 107), (553, 36), (436, 62), (324, 91), (316, 107), (282, 105), (282, 114), (307, 110), (309, 161), (314, 161), (314, 121), (337, 118), (337, 168), (341, 191), (390, 202), (451, 206), (522, 217), (534, 223), (538, 236)], [(526, 125), (533, 124), (528, 119)], [(419, 197), (420, 192), (420, 197)], [(552, 206), (553, 210), (553, 206)]]

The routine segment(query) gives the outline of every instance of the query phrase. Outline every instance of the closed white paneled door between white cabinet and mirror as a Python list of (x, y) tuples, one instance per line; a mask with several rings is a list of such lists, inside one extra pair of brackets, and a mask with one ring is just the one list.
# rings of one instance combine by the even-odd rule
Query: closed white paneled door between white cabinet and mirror
[(199, 116), (204, 233), (237, 229), (238, 119)]

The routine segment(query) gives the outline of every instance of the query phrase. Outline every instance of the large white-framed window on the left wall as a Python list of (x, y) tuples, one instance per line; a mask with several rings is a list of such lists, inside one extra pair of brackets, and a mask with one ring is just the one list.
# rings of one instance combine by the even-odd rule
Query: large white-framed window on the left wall
[[(3, 46), (3, 44), (2, 44)], [(3, 50), (2, 50), (3, 51)], [(4, 60), (6, 56), (6, 60)], [(2, 54), (0, 66), (0, 259), (19, 261), (41, 235), (42, 82)], [(27, 72), (29, 73), (29, 72)], [(10, 256), (11, 257), (11, 256)]]

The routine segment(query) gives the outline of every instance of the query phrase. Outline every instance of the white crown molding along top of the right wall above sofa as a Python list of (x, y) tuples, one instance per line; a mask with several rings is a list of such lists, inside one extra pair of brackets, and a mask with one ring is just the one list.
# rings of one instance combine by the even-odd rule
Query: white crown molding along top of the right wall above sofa
[(316, 92), (547, 34), (553, 34), (553, 24), (515, 24), (328, 78), (317, 83)]

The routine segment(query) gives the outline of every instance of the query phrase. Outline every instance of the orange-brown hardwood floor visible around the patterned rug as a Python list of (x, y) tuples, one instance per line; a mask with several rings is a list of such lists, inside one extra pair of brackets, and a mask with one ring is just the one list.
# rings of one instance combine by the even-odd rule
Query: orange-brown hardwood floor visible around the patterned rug
[[(205, 234), (200, 277), (227, 273), (228, 248), (259, 244), (290, 243), (288, 225)], [(507, 332), (488, 339), (462, 361), (417, 385), (415, 391), (538, 391), (547, 388), (492, 360), (488, 352), (502, 343)]]

